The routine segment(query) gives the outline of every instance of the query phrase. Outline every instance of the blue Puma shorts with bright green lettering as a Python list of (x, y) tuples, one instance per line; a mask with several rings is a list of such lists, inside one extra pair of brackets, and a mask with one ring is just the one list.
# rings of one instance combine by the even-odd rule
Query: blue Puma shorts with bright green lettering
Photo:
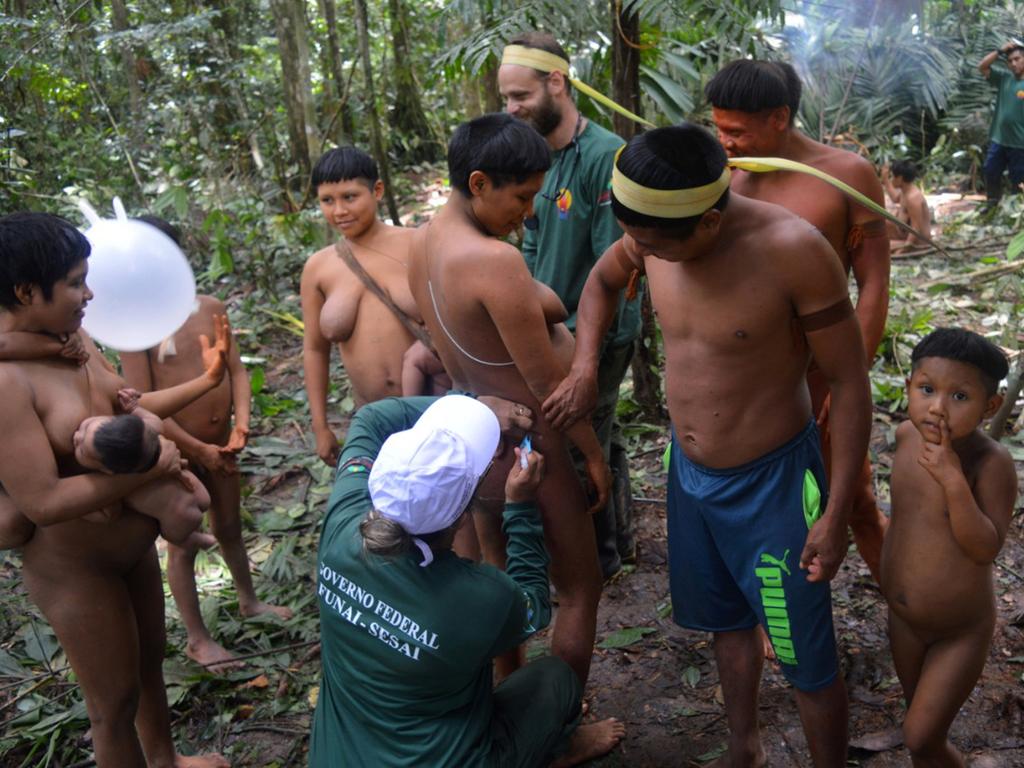
[(676, 624), (707, 632), (765, 627), (800, 690), (839, 673), (831, 590), (799, 567), (827, 501), (814, 421), (784, 445), (730, 469), (694, 464), (673, 435), (669, 579)]

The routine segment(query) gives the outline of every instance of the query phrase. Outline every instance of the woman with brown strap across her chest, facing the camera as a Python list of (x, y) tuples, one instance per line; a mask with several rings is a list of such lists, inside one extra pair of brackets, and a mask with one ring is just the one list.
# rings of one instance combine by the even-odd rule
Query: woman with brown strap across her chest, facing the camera
[[(409, 290), (409, 245), (415, 230), (385, 224), (377, 216), (384, 182), (377, 163), (361, 150), (343, 146), (325, 153), (313, 168), (312, 185), (325, 220), (342, 236), (339, 246), (330, 245), (306, 260), (300, 287), (309, 416), (316, 454), (333, 467), (338, 438), (327, 412), (331, 347), (338, 345), (356, 406), (401, 394), (402, 355), (414, 341), (408, 324), (421, 323)], [(350, 253), (355, 271), (342, 252)], [(392, 306), (374, 293), (371, 282)]]

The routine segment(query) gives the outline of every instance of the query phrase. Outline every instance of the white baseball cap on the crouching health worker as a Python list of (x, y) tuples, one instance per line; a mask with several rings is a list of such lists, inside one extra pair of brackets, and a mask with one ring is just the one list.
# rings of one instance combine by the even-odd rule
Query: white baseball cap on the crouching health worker
[(451, 526), (469, 506), (498, 447), (498, 418), (465, 395), (440, 397), (412, 429), (381, 445), (370, 471), (374, 508), (414, 536), (424, 562), (433, 560), (419, 534)]

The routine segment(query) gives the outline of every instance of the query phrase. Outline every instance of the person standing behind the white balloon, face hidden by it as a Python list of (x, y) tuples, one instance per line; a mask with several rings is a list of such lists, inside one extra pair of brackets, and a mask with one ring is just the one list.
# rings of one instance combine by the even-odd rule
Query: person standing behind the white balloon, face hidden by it
[[(177, 230), (162, 219), (141, 217), (178, 242)], [(199, 343), (218, 326), (230, 337), (224, 304), (212, 296), (198, 296), (197, 307), (185, 324), (157, 347), (141, 352), (122, 352), (121, 366), (128, 384), (141, 392), (164, 389), (186, 381), (200, 366)], [(290, 608), (270, 605), (256, 596), (249, 555), (242, 537), (242, 487), (237, 455), (249, 435), (252, 390), (238, 345), (227, 354), (227, 376), (220, 384), (187, 408), (165, 420), (164, 433), (174, 440), (210, 492), (210, 530), (220, 545), (221, 556), (231, 571), (243, 616), (274, 613), (291, 618)], [(234, 425), (231, 425), (231, 415)], [(207, 629), (196, 590), (196, 547), (167, 549), (167, 582), (188, 635), (187, 655), (214, 673), (232, 665), (233, 656)]]

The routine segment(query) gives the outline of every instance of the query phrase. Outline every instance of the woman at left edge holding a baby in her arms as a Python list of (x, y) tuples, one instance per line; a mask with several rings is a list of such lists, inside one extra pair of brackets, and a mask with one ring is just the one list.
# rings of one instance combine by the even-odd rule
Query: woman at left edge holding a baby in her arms
[[(78, 332), (92, 298), (88, 255), (88, 241), (63, 219), (0, 218), (0, 331)], [(0, 444), (0, 483), (37, 526), (23, 550), (25, 585), (82, 686), (99, 768), (226, 766), (219, 755), (174, 752), (162, 670), (157, 521), (131, 511), (109, 524), (82, 519), (179, 467), (168, 440), (146, 473), (82, 473), (73, 435), (86, 417), (113, 413), (124, 387), (85, 343), (90, 355), (81, 367), (55, 358), (0, 364), (0, 432), (7, 437)], [(218, 381), (211, 377), (206, 390)], [(159, 396), (143, 404), (163, 415), (195, 396), (165, 401), (173, 406), (166, 410), (155, 401)]]

